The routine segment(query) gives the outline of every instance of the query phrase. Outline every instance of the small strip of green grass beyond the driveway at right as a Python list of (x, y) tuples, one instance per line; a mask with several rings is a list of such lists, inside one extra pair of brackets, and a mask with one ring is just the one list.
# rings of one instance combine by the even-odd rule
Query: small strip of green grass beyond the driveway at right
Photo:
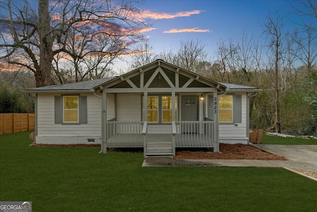
[(279, 145), (317, 145), (317, 140), (302, 138), (282, 138), (277, 136), (266, 135), (266, 133), (263, 132), (262, 143)]

